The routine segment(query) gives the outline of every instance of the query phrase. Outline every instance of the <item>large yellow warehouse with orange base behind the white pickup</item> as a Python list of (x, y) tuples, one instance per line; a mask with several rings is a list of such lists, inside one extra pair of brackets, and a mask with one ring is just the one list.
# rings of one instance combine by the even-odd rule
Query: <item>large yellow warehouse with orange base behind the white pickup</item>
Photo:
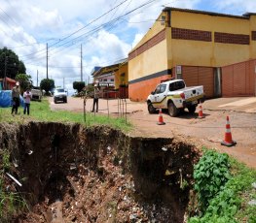
[[(146, 100), (158, 83), (170, 78), (183, 79), (188, 86), (203, 85), (207, 97), (220, 96), (226, 79), (221, 67), (250, 59), (256, 59), (256, 14), (165, 8), (128, 54), (129, 98)], [(240, 79), (255, 79), (253, 71)], [(238, 94), (255, 91), (255, 80), (247, 81)]]

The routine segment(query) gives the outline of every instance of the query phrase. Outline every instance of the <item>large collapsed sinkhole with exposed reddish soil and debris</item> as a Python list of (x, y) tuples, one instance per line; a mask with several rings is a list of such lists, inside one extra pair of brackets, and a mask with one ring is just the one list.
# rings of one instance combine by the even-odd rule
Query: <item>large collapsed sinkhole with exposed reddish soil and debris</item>
[(106, 126), (30, 122), (1, 126), (10, 151), (6, 188), (27, 208), (12, 222), (183, 222), (196, 147), (130, 137)]

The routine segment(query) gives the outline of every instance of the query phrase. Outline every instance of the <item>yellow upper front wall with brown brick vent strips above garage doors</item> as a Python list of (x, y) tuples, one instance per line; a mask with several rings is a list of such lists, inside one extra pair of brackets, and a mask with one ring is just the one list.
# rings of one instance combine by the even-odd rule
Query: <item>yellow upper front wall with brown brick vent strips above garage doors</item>
[(254, 26), (250, 19), (172, 11), (170, 22), (168, 64), (172, 67), (221, 67), (256, 57), (250, 45)]

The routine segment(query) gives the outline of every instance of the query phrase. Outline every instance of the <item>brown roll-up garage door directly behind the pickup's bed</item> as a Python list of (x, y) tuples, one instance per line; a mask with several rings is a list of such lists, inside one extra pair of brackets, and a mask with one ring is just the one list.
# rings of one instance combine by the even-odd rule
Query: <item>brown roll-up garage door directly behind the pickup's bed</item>
[(182, 78), (187, 86), (203, 85), (203, 91), (207, 98), (214, 96), (213, 68), (182, 66)]

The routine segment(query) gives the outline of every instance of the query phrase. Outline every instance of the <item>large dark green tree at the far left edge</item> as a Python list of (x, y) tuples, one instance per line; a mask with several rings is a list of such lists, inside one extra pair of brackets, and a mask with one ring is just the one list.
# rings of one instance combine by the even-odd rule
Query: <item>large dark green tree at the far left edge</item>
[(0, 48), (0, 78), (15, 80), (18, 74), (26, 74), (23, 62), (12, 49)]

